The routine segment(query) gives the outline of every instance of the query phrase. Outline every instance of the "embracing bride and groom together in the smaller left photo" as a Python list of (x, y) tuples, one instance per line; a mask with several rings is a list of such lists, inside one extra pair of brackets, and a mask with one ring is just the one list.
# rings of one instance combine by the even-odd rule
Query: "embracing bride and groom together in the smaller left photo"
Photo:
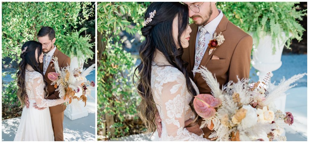
[(16, 77), (17, 97), (23, 111), (14, 141), (63, 141), (66, 106), (62, 103), (69, 100), (59, 98), (47, 74), (55, 72), (52, 57), (58, 58), (61, 68), (70, 65), (70, 58), (54, 45), (53, 28), (42, 27), (37, 39), (38, 42), (25, 42), (21, 48), (22, 60)]

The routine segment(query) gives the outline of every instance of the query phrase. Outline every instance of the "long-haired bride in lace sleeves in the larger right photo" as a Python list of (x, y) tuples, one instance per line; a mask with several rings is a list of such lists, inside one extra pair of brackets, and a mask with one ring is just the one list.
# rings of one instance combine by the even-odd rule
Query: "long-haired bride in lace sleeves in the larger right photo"
[[(181, 56), (189, 46), (191, 28), (188, 7), (180, 2), (153, 2), (145, 13), (142, 34), (146, 37), (140, 48), (138, 94), (142, 101), (138, 114), (147, 133), (155, 132), (155, 113), (162, 119), (160, 141), (208, 141), (185, 127), (192, 119), (197, 124), (193, 96), (199, 94), (189, 78)], [(135, 75), (136, 76), (136, 75)]]

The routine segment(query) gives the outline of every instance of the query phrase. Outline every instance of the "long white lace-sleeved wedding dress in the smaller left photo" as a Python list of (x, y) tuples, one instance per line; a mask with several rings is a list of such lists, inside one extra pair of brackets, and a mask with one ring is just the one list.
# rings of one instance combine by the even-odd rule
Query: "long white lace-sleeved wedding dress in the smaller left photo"
[(61, 104), (61, 100), (44, 99), (45, 85), (39, 72), (26, 70), (25, 83), (30, 105), (23, 107), (14, 141), (54, 141), (49, 108), (38, 110), (33, 103), (38, 107), (50, 107)]

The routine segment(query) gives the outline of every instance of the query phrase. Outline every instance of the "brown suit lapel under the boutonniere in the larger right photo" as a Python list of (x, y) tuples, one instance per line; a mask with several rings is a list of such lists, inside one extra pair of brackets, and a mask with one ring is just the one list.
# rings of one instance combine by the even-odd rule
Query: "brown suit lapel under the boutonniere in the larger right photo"
[[(225, 17), (225, 15), (223, 15), (219, 25), (217, 26), (216, 28), (216, 33), (217, 35), (220, 34), (221, 32), (225, 31), (226, 30), (226, 25), (228, 23), (228, 20), (227, 18)], [(223, 35), (224, 36), (224, 35)], [(207, 41), (206, 41), (207, 42)], [(208, 45), (209, 41), (206, 43)], [(218, 46), (217, 48), (219, 48), (220, 46)], [(209, 55), (209, 47), (207, 47), (206, 51), (205, 51), (205, 54), (202, 58), (202, 61), (200, 63), (200, 66), (199, 68), (201, 68), (201, 66), (206, 66), (207, 63), (209, 62), (210, 58), (213, 56), (214, 52), (213, 51), (210, 55)], [(195, 73), (195, 77), (194, 77), (194, 81), (196, 82), (197, 79), (200, 77), (201, 73)]]

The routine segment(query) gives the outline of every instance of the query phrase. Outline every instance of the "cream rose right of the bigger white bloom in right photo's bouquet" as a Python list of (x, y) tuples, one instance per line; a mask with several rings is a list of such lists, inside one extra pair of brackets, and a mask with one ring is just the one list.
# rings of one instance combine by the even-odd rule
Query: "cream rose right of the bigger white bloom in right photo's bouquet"
[(258, 122), (261, 123), (266, 123), (269, 122), (271, 123), (274, 120), (275, 113), (272, 110), (268, 110), (267, 106), (264, 106), (263, 109), (257, 109), (256, 113), (258, 115)]

